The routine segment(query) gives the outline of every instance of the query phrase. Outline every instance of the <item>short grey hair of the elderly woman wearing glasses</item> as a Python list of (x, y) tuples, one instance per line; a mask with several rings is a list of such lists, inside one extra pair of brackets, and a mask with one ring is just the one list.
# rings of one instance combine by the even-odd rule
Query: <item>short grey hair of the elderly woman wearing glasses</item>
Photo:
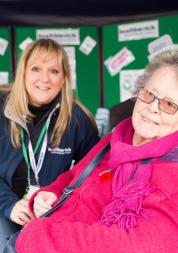
[(144, 88), (156, 70), (163, 67), (173, 68), (178, 77), (178, 50), (166, 50), (153, 57), (146, 66), (144, 73), (137, 78), (135, 93), (137, 93), (140, 88)]

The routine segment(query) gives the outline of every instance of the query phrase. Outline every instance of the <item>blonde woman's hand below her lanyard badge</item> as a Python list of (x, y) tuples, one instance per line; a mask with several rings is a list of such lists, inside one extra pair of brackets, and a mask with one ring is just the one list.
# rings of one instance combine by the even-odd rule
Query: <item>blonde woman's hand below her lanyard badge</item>
[(21, 226), (29, 223), (34, 218), (34, 214), (28, 208), (28, 201), (24, 199), (16, 202), (10, 214), (10, 219)]

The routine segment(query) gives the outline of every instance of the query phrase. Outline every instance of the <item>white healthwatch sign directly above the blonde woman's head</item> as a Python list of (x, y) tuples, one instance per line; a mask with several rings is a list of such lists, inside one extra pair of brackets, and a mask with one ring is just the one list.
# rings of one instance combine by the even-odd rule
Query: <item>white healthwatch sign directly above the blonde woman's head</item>
[(37, 39), (53, 39), (62, 45), (79, 45), (79, 29), (41, 29), (36, 31)]

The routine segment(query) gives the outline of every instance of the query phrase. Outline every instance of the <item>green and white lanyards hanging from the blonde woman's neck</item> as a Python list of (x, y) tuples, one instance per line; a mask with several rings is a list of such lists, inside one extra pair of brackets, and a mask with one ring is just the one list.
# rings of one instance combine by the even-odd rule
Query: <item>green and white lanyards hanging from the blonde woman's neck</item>
[[(39, 186), (39, 176), (38, 175), (39, 175), (39, 172), (42, 168), (46, 149), (47, 149), (48, 127), (49, 127), (49, 124), (51, 121), (51, 117), (57, 108), (59, 108), (59, 104), (57, 104), (56, 107), (50, 112), (50, 114), (47, 118), (47, 121), (45, 122), (45, 124), (40, 132), (40, 135), (38, 137), (34, 151), (33, 151), (33, 147), (32, 147), (32, 143), (31, 143), (30, 138), (29, 138), (28, 151), (27, 151), (27, 148), (26, 148), (25, 142), (24, 142), (24, 130), (23, 130), (23, 128), (20, 129), (20, 135), (21, 135), (21, 139), (22, 139), (22, 152), (23, 152), (23, 156), (24, 156), (24, 159), (25, 159), (25, 162), (27, 165), (27, 169), (28, 169), (28, 187), (30, 187), (30, 181), (31, 181), (30, 166), (35, 174), (36, 183)], [(28, 135), (29, 135), (29, 132), (28, 132)], [(30, 135), (29, 135), (29, 137), (30, 137)], [(35, 154), (36, 154), (37, 150), (39, 149), (39, 146), (41, 143), (42, 143), (41, 150), (39, 153), (38, 162), (36, 163)]]

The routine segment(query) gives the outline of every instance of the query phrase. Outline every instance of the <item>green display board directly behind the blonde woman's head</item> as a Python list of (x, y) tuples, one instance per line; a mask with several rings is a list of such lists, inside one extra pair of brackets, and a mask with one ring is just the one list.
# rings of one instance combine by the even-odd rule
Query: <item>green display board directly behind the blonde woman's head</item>
[(60, 42), (69, 55), (76, 96), (94, 114), (99, 107), (98, 30), (96, 27), (16, 27), (16, 63), (26, 45), (38, 38)]

